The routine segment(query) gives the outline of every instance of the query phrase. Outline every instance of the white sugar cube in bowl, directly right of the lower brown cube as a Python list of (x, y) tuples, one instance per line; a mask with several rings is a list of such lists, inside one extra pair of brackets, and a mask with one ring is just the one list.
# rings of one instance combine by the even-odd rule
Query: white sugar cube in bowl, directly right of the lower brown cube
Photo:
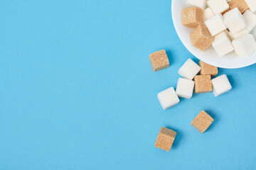
[(234, 50), (234, 47), (228, 38), (228, 35), (223, 31), (214, 36), (213, 48), (218, 56), (223, 57)]

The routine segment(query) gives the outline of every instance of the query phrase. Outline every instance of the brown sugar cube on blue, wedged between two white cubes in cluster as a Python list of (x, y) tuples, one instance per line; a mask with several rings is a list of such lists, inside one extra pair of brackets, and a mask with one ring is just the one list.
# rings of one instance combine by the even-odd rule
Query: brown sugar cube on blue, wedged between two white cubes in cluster
[(210, 93), (213, 90), (210, 75), (198, 75), (194, 78), (195, 81), (195, 94)]

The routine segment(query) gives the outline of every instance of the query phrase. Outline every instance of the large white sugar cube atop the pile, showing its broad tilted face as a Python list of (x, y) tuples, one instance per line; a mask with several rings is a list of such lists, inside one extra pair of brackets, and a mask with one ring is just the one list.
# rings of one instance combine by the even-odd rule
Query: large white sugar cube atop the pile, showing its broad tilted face
[(246, 27), (245, 18), (238, 8), (233, 8), (223, 15), (224, 23), (230, 30), (230, 33), (238, 33)]

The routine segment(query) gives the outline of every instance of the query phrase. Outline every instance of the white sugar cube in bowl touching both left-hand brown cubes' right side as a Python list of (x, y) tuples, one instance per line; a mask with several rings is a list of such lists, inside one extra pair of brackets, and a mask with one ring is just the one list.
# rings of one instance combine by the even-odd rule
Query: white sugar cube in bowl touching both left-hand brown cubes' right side
[(208, 19), (205, 21), (205, 23), (208, 30), (210, 31), (210, 34), (213, 36), (227, 29), (227, 26), (225, 26), (223, 21), (223, 16), (220, 13)]

